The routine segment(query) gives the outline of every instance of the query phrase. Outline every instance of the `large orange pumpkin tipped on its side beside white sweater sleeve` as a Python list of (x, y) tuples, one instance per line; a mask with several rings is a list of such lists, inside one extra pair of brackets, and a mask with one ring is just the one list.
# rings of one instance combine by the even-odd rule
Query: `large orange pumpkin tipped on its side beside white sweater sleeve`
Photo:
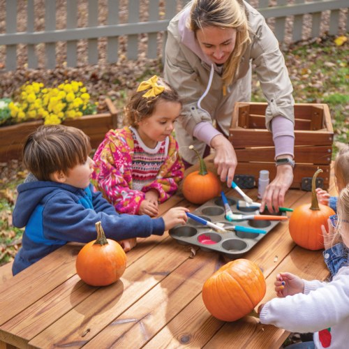
[(215, 318), (235, 321), (253, 311), (265, 296), (265, 277), (250, 260), (228, 262), (202, 288), (202, 300)]

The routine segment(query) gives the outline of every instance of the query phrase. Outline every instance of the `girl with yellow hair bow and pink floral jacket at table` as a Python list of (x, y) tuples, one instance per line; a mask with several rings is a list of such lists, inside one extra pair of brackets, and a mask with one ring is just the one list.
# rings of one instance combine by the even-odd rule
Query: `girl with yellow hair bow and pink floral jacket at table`
[(184, 164), (172, 132), (180, 113), (177, 91), (154, 75), (126, 104), (127, 126), (105, 135), (92, 182), (118, 212), (157, 216), (158, 204), (177, 191)]

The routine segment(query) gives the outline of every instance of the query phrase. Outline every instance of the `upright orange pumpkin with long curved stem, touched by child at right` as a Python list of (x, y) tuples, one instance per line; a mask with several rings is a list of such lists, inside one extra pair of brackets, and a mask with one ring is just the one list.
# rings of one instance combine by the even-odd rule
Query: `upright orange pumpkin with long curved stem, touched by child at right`
[(320, 172), (321, 169), (317, 170), (311, 181), (311, 206), (309, 207), (309, 204), (298, 206), (292, 212), (288, 223), (292, 240), (297, 245), (313, 251), (324, 248), (321, 225), (327, 227), (327, 219), (336, 213), (331, 207), (318, 203), (315, 180)]

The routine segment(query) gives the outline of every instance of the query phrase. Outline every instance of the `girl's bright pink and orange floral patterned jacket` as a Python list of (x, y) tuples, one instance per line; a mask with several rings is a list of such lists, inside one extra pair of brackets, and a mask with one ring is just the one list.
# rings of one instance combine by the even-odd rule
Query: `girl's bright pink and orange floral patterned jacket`
[(132, 161), (134, 142), (127, 126), (110, 130), (94, 155), (92, 184), (114, 205), (119, 213), (138, 214), (144, 194), (151, 189), (159, 193), (159, 202), (168, 200), (184, 177), (184, 165), (179, 157), (178, 144), (169, 136), (168, 156), (156, 179), (142, 191), (132, 189)]

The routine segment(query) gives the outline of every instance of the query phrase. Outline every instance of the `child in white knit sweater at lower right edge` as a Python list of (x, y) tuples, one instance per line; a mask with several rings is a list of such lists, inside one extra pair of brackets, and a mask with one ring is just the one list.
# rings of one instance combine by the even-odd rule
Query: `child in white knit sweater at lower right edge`
[[(336, 234), (341, 235), (343, 244), (348, 248), (349, 185), (339, 194), (337, 211)], [(290, 332), (315, 332), (315, 348), (348, 348), (348, 261), (328, 283), (318, 280), (306, 281), (294, 274), (283, 272), (276, 276), (274, 285), (279, 298), (259, 306), (258, 313), (262, 324), (275, 325)], [(304, 346), (306, 343), (300, 344)], [(311, 348), (311, 343), (307, 342), (307, 345)]]

